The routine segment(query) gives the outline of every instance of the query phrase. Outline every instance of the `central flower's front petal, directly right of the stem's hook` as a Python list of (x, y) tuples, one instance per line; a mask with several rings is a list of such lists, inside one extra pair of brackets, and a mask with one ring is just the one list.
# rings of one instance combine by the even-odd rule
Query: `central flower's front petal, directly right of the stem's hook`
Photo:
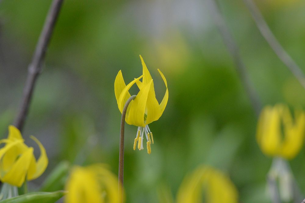
[(138, 95), (135, 97), (135, 100), (131, 104), (127, 118), (127, 123), (129, 125), (145, 127), (144, 114), (145, 114), (147, 97), (151, 85), (152, 85), (152, 80), (143, 86), (143, 88), (139, 91)]

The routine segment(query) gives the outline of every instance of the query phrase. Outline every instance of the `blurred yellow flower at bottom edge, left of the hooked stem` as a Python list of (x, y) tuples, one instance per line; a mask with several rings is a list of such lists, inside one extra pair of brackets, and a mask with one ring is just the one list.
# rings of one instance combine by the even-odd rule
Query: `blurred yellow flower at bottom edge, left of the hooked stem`
[(66, 203), (118, 203), (117, 177), (105, 165), (74, 166), (66, 183)]

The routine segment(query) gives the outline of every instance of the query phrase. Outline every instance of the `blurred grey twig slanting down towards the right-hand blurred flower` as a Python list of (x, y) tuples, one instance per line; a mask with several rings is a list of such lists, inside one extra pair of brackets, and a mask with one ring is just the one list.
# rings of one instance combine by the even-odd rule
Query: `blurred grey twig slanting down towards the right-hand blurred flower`
[(250, 102), (252, 103), (253, 109), (258, 116), (260, 113), (260, 110), (262, 108), (260, 98), (255, 91), (252, 82), (250, 81), (250, 78), (248, 77), (246, 73), (246, 67), (245, 64), (242, 62), (242, 59), (239, 55), (239, 49), (231, 36), (228, 26), (226, 25), (224, 18), (218, 8), (217, 2), (215, 0), (208, 0), (209, 6), (210, 6), (210, 13), (212, 14), (212, 17), (215, 21), (215, 24), (218, 27), (219, 32), (221, 33), (221, 36), (224, 40), (224, 43), (227, 45), (228, 50), (230, 54), (232, 55), (236, 70), (240, 76), (240, 79), (242, 81), (242, 84), (246, 90), (246, 93), (249, 96)]

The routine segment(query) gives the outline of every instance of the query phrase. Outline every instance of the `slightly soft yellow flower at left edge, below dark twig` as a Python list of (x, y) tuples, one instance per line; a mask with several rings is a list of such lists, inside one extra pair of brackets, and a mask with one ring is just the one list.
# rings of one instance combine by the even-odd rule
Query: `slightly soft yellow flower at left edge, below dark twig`
[(48, 157), (45, 148), (31, 136), (40, 148), (40, 157), (36, 161), (33, 147), (28, 147), (20, 131), (13, 125), (9, 126), (9, 136), (0, 140), (5, 146), (0, 149), (0, 179), (2, 182), (20, 187), (25, 177), (27, 180), (38, 178), (47, 168)]

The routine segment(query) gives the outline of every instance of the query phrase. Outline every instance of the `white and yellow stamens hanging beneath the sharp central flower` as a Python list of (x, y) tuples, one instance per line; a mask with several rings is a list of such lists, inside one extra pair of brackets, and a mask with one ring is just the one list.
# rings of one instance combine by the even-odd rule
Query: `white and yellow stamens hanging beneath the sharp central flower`
[(137, 136), (135, 138), (135, 143), (134, 143), (134, 150), (136, 149), (137, 142), (138, 142), (138, 149), (139, 150), (144, 149), (143, 148), (144, 133), (147, 140), (146, 142), (147, 153), (150, 154), (151, 153), (150, 145), (153, 144), (153, 136), (152, 136), (152, 132), (150, 132), (148, 125), (145, 125), (145, 127), (138, 127)]

